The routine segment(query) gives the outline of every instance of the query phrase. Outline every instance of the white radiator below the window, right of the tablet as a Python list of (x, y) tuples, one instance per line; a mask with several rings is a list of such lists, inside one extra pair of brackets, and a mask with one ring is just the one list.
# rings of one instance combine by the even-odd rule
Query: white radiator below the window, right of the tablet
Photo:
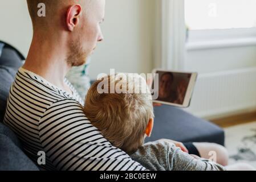
[(198, 75), (185, 110), (202, 118), (256, 110), (256, 67)]

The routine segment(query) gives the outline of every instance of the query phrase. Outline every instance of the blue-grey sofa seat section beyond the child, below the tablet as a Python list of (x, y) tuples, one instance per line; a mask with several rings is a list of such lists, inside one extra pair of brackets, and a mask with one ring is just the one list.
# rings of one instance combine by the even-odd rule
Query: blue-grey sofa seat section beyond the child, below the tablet
[(155, 107), (154, 111), (154, 128), (151, 138), (146, 139), (147, 142), (166, 138), (179, 142), (212, 142), (224, 145), (224, 130), (213, 123), (168, 105)]

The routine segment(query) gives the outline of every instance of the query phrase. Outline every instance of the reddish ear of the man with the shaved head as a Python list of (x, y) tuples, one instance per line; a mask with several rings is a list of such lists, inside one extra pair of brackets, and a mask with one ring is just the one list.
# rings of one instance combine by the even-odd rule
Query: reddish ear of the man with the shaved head
[(80, 5), (73, 5), (67, 10), (66, 24), (69, 31), (74, 31), (74, 28), (79, 23), (81, 14), (82, 7)]

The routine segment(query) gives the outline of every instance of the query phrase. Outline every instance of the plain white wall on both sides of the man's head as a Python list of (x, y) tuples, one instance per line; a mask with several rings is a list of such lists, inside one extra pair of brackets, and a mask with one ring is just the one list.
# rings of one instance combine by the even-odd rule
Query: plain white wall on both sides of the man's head
[[(118, 72), (148, 73), (153, 67), (156, 0), (107, 0), (104, 42), (92, 56), (90, 75)], [(25, 0), (0, 1), (0, 40), (27, 55), (32, 27)]]

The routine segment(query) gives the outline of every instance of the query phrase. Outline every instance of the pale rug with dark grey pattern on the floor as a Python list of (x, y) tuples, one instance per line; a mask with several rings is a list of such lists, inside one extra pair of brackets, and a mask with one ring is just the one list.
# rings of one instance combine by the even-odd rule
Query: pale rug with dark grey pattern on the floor
[(256, 122), (224, 129), (229, 164), (248, 163), (256, 167)]

